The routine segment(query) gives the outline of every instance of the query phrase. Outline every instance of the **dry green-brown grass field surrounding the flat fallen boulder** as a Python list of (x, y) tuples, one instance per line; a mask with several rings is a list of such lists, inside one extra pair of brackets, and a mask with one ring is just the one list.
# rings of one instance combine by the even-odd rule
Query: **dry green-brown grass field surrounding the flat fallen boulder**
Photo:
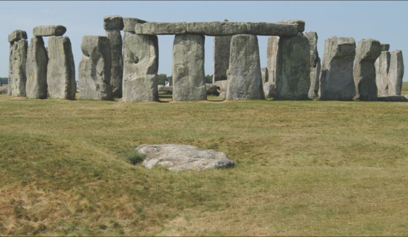
[[(0, 235), (408, 235), (407, 102), (0, 95), (0, 118)], [(236, 168), (128, 163), (144, 143)]]

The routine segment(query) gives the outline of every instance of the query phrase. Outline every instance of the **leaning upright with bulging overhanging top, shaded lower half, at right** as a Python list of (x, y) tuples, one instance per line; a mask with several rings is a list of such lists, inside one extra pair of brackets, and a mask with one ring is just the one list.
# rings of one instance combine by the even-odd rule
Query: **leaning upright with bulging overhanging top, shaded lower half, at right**
[(381, 44), (378, 40), (360, 40), (355, 50), (353, 67), (355, 100), (377, 100), (374, 63), (380, 54)]

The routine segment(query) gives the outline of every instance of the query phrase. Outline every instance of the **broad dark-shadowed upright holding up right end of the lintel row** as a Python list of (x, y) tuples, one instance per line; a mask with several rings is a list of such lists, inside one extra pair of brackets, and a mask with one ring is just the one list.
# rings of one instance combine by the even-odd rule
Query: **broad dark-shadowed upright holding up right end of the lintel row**
[(310, 48), (304, 36), (279, 38), (275, 99), (309, 99)]

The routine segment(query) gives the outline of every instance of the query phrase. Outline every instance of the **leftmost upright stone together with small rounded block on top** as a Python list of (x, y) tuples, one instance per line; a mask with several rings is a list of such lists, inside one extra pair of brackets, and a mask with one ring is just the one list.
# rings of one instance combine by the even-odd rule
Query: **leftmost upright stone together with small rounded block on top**
[(27, 33), (22, 30), (15, 30), (9, 34), (8, 41), (10, 42), (10, 58), (7, 93), (12, 96), (25, 96)]

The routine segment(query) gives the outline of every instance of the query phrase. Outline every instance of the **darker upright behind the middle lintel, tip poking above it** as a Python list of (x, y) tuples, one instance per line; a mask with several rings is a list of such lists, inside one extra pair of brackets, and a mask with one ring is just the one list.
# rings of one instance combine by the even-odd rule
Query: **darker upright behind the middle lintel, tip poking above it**
[[(228, 20), (224, 20), (228, 21)], [(226, 80), (226, 70), (230, 63), (230, 44), (232, 36), (214, 36), (213, 54), (213, 84), (217, 81)]]

